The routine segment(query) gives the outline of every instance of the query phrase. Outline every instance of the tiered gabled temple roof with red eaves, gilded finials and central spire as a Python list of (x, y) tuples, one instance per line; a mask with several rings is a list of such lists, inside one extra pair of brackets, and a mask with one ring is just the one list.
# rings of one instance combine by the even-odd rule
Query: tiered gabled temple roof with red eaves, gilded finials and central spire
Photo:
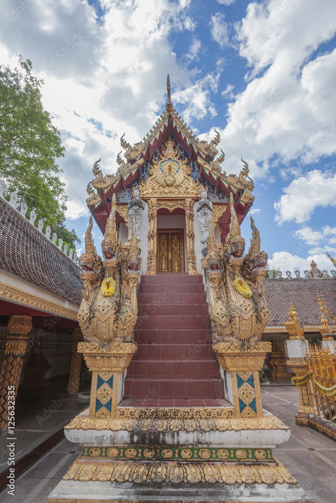
[[(185, 151), (185, 155), (199, 166), (197, 178), (203, 185), (211, 184), (214, 189), (230, 196), (233, 193), (236, 212), (241, 223), (246, 213), (251, 207), (254, 197), (251, 192), (254, 188), (253, 181), (248, 177), (248, 165), (243, 161), (242, 171), (239, 176), (228, 175), (221, 170), (221, 163), (224, 161), (224, 152), (215, 159), (218, 154), (216, 146), (220, 142), (220, 135), (215, 130), (216, 136), (209, 143), (199, 140), (185, 123), (179, 113), (173, 108), (170, 99), (170, 80), (167, 77), (168, 99), (165, 111), (160, 115), (150, 132), (142, 141), (133, 147), (124, 139), (124, 134), (120, 138), (120, 145), (125, 150), (123, 160), (117, 155), (119, 164), (116, 175), (106, 175), (103, 177), (97, 161), (93, 167), (95, 179), (88, 184), (87, 192), (89, 198), (87, 204), (94, 215), (99, 227), (104, 231), (106, 219), (110, 211), (110, 198), (114, 193), (123, 191), (129, 185), (137, 183), (144, 176), (146, 161), (151, 159), (154, 152), (165, 141), (167, 136), (178, 142)], [(95, 190), (97, 192), (95, 192)], [(224, 201), (223, 201), (224, 202)], [(226, 201), (227, 203), (228, 201)], [(122, 219), (120, 221), (123, 221)], [(226, 227), (228, 222), (223, 218), (220, 223)]]

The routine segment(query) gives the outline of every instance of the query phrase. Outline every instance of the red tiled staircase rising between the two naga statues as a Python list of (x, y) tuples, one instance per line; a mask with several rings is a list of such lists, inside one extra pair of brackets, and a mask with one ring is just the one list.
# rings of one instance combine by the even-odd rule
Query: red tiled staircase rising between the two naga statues
[(127, 369), (122, 406), (223, 406), (202, 277), (142, 276), (135, 326), (138, 352)]

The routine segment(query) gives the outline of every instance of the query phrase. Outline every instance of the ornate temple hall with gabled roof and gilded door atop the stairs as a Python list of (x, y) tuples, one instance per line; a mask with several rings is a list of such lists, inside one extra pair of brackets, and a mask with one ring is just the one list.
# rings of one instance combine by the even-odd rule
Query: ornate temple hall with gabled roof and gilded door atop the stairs
[(103, 177), (95, 163), (87, 203), (104, 233), (115, 194), (122, 244), (129, 235), (129, 214), (136, 216), (141, 274), (200, 274), (207, 255), (209, 215), (217, 241), (224, 243), (230, 193), (241, 223), (253, 203), (254, 185), (244, 161), (238, 176), (222, 171), (224, 153), (215, 160), (217, 132), (210, 143), (193, 134), (173, 108), (169, 76), (167, 92), (166, 110), (142, 141), (132, 147), (121, 137), (125, 160), (118, 154), (116, 175)]

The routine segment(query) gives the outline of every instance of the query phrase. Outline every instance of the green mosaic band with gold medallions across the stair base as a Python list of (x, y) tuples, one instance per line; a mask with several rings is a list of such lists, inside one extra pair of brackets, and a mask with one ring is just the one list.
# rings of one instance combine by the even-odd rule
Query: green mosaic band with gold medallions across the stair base
[(224, 449), (222, 447), (83, 447), (82, 458), (152, 459), (175, 461), (269, 461), (272, 449)]

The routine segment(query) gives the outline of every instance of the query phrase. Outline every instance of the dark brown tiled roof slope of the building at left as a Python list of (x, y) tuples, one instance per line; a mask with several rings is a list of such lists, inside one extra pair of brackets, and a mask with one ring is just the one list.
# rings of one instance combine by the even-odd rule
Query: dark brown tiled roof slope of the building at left
[(80, 268), (34, 225), (0, 198), (0, 268), (76, 304)]

